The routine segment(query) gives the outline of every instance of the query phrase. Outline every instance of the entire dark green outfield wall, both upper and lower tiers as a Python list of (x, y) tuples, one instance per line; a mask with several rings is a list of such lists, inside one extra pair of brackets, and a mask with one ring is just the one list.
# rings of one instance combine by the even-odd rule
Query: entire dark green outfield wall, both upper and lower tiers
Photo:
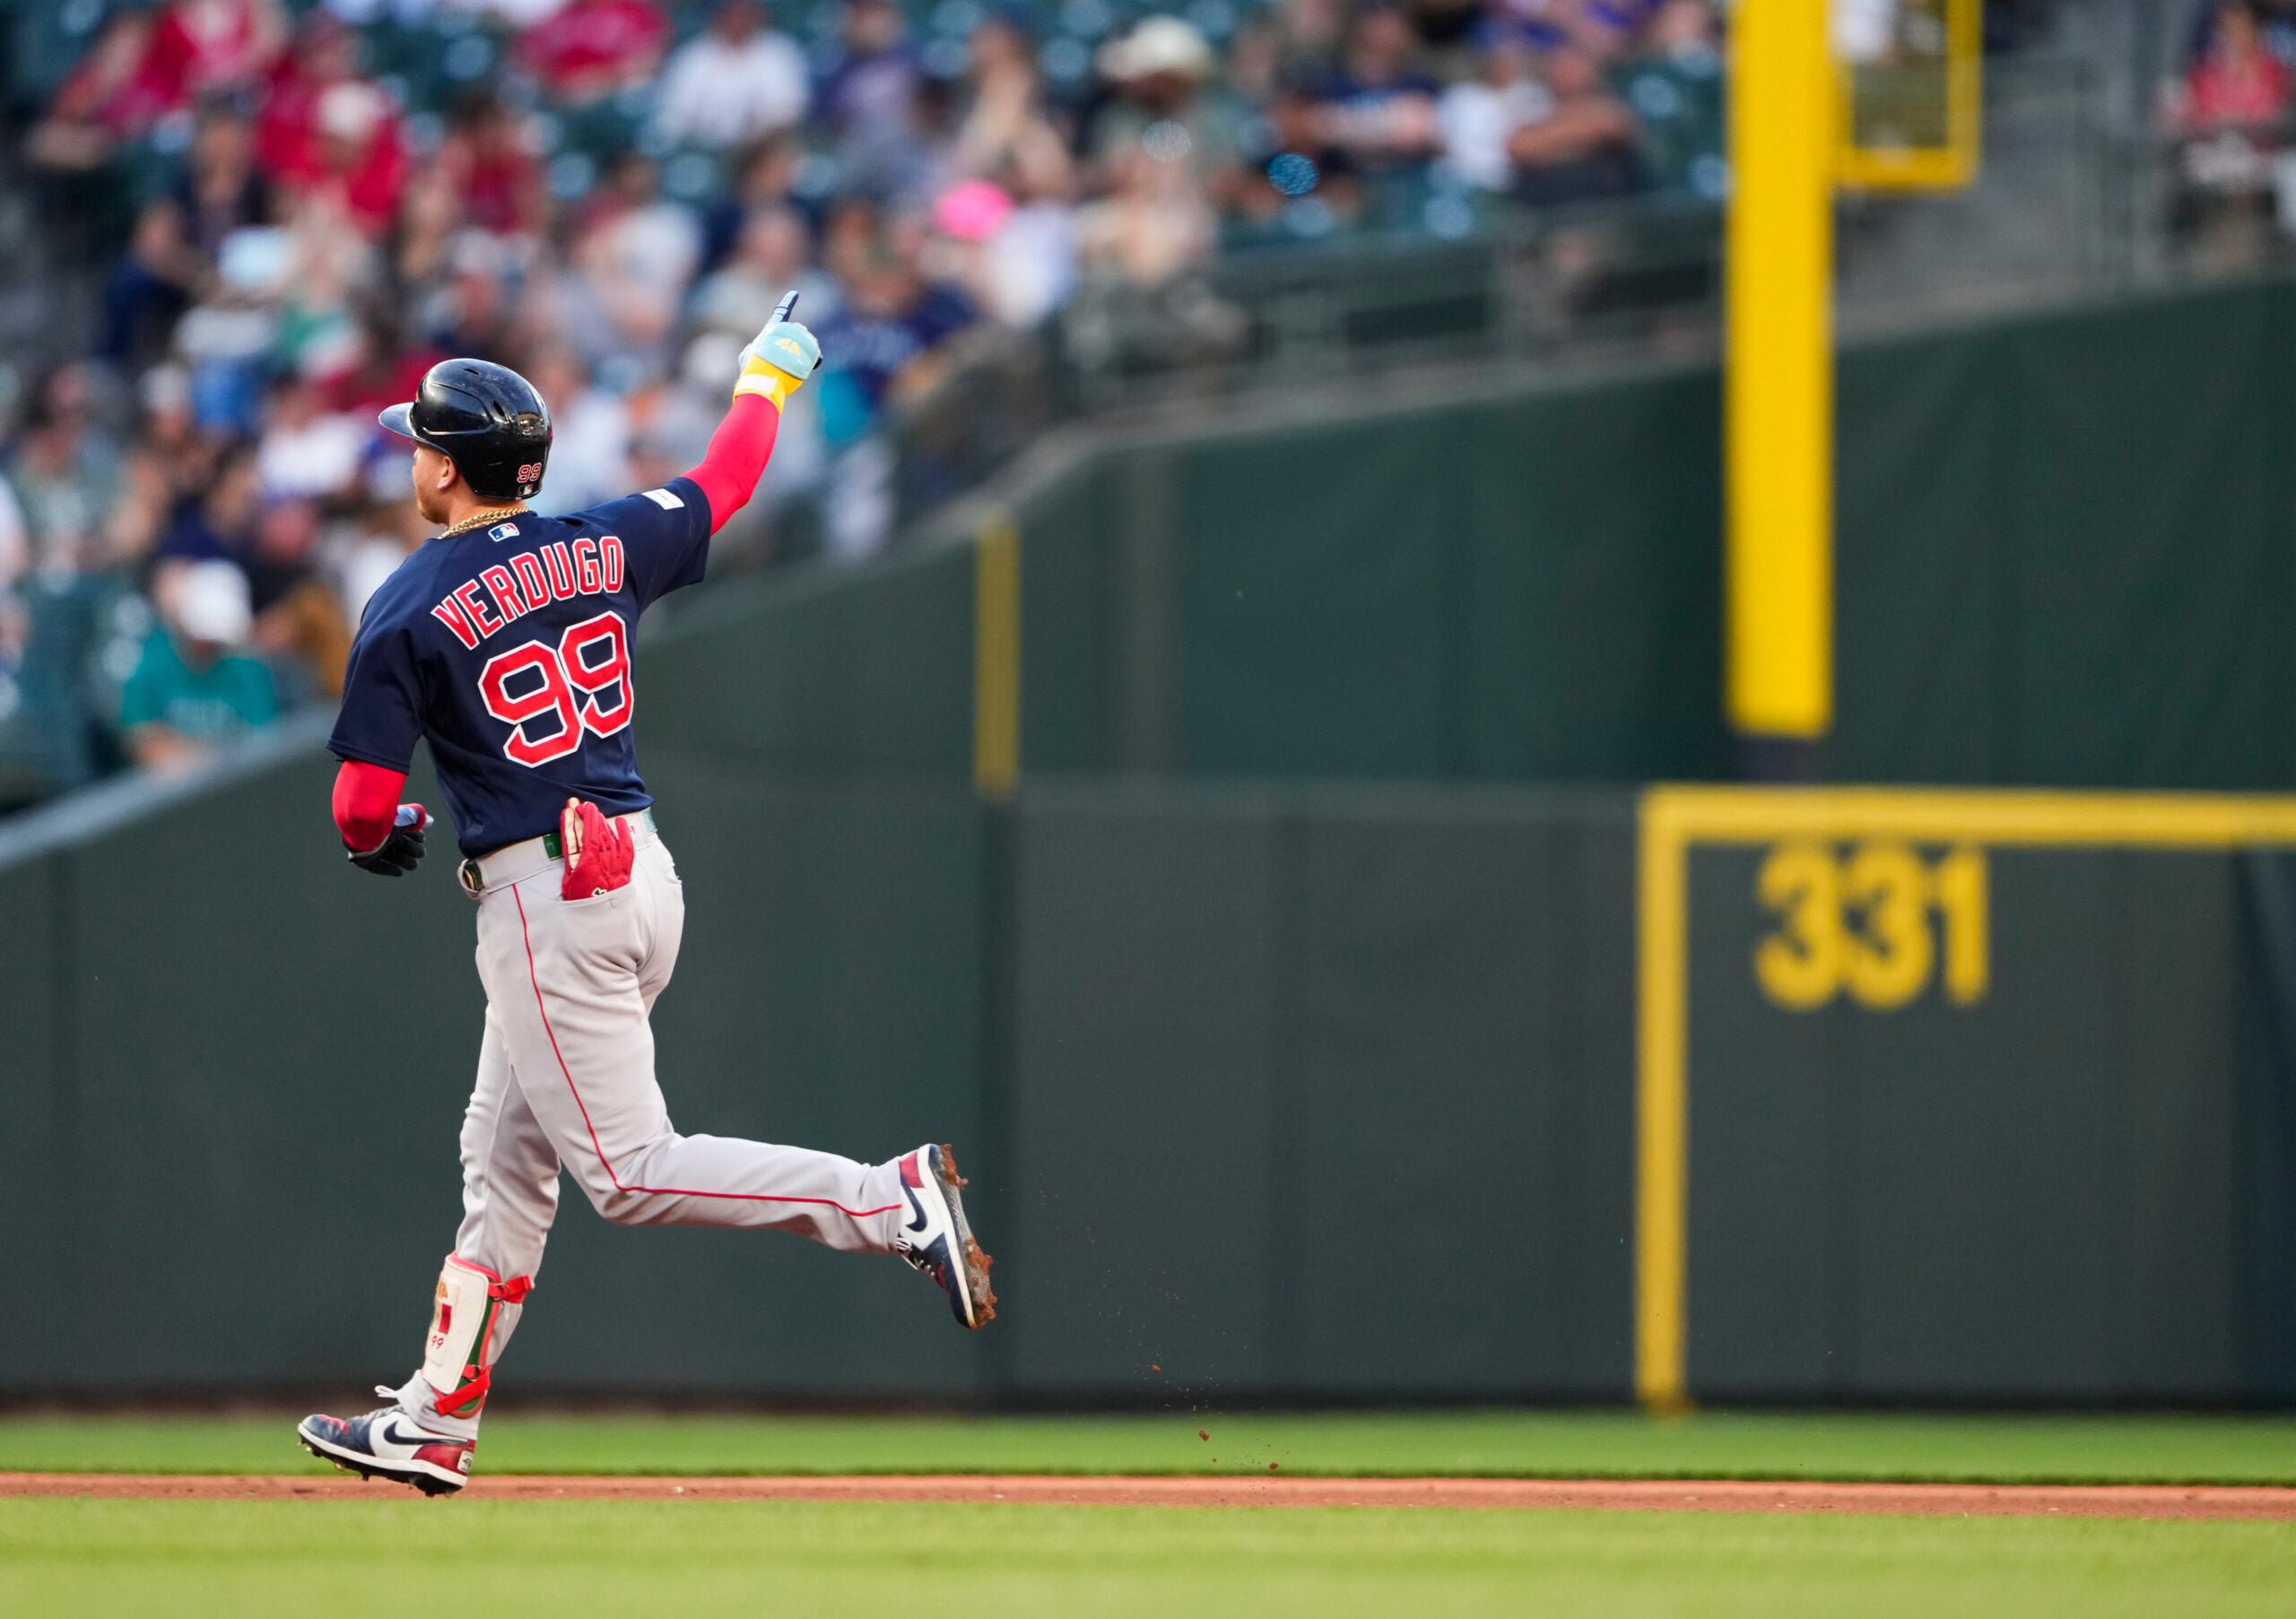
[[(1835, 774), (2112, 795), (1637, 785), (1727, 765), (1711, 367), (1107, 436), (677, 604), (673, 1111), (960, 1141), (1008, 1311), (569, 1196), (505, 1376), (2289, 1399), (2296, 815), (2126, 790), (2296, 783), (2291, 296), (1844, 358)], [(471, 914), (328, 769), (0, 829), (0, 1392), (413, 1357)]]

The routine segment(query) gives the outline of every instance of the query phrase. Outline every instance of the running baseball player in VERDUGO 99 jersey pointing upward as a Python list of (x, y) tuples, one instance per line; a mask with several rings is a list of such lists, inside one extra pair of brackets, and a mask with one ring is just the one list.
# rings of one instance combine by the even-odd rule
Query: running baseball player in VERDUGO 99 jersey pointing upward
[(374, 592), (342, 716), (335, 824), (360, 870), (422, 859), (402, 804), (427, 737), (478, 903), (487, 1033), (461, 1123), (461, 1229), (439, 1272), (422, 1364), (365, 1417), (305, 1417), (303, 1447), (425, 1495), (459, 1490), (494, 1364), (558, 1213), (558, 1171), (627, 1226), (774, 1226), (932, 1277), (967, 1327), (994, 1316), (990, 1258), (957, 1164), (921, 1146), (859, 1164), (799, 1146), (677, 1134), (647, 1013), (684, 928), (677, 866), (638, 778), (631, 632), (703, 576), (709, 535), (748, 501), (783, 402), (820, 365), (790, 319), (742, 351), (732, 409), (684, 478), (572, 517), (537, 517), (551, 418), (512, 370), (443, 361), (381, 423), (416, 443), (416, 503), (443, 530)]

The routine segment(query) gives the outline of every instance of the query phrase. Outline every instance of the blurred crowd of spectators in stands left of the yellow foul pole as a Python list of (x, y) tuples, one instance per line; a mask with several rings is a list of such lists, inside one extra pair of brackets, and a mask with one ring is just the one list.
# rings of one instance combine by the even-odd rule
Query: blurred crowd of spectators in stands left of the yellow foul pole
[(797, 287), (827, 367), (723, 544), (859, 558), (889, 416), (999, 331), (1217, 356), (1224, 250), (1720, 193), (1711, 0), (69, 11), (21, 161), (101, 317), (14, 374), (0, 806), (340, 689), (425, 537), (374, 411), (436, 358), (535, 379), (574, 510), (698, 459)]

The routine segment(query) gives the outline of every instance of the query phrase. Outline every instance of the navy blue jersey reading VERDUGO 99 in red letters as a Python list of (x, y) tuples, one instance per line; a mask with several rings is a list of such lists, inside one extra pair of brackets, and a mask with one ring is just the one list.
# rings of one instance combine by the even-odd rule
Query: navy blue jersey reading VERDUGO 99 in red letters
[(687, 478), (432, 540), (358, 620), (328, 749), (404, 772), (429, 737), (464, 854), (556, 831), (569, 797), (641, 811), (631, 632), (707, 560), (709, 501)]

